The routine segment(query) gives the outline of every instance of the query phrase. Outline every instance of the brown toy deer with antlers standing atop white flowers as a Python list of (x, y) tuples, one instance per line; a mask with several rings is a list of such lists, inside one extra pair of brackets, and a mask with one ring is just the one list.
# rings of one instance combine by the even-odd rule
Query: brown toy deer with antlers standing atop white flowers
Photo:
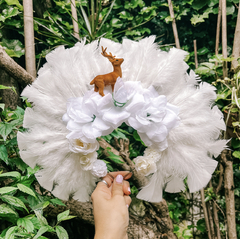
[(114, 85), (118, 77), (122, 77), (122, 69), (121, 64), (123, 63), (123, 58), (115, 58), (111, 52), (109, 54), (106, 53), (107, 47), (104, 49), (102, 47), (102, 55), (107, 57), (108, 60), (113, 65), (113, 72), (96, 76), (91, 82), (90, 85), (95, 84), (94, 91), (99, 92), (101, 96), (104, 96), (103, 89), (107, 85), (111, 85), (112, 91), (114, 90)]

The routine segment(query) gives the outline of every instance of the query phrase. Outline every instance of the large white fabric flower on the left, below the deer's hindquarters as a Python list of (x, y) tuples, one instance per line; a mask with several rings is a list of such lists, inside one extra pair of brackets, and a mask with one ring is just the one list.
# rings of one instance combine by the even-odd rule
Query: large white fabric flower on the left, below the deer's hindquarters
[(102, 107), (110, 100), (110, 94), (101, 97), (93, 91), (87, 92), (84, 97), (69, 99), (67, 113), (62, 118), (70, 131), (67, 138), (95, 143), (97, 137), (110, 134), (113, 128), (102, 119)]

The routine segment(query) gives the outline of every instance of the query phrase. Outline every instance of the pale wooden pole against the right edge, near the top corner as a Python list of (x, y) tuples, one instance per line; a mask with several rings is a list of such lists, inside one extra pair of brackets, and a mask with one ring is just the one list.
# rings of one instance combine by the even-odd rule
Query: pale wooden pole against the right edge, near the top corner
[[(240, 2), (239, 2), (240, 6)], [(232, 61), (231, 68), (235, 70), (238, 66), (237, 58), (240, 56), (240, 10), (238, 8), (238, 17), (237, 17), (237, 23), (235, 28), (235, 34), (234, 34), (234, 41), (233, 41), (233, 51), (232, 51), (232, 57), (236, 58)]]

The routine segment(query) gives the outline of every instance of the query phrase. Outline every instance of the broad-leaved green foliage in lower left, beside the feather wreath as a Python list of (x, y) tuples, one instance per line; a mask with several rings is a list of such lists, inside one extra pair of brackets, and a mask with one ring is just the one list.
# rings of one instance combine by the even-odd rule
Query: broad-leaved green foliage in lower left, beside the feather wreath
[[(57, 216), (55, 225), (50, 225), (43, 215), (49, 205), (65, 206), (59, 199), (40, 195), (35, 191), (34, 174), (39, 170), (28, 167), (19, 155), (17, 132), (21, 132), (24, 110), (3, 107), (0, 123), (0, 220), (9, 225), (0, 232), (0, 238), (46, 238), (44, 233), (53, 233), (58, 238), (68, 238), (68, 233), (60, 225), (70, 220), (69, 210)], [(7, 172), (6, 172), (7, 171)]]

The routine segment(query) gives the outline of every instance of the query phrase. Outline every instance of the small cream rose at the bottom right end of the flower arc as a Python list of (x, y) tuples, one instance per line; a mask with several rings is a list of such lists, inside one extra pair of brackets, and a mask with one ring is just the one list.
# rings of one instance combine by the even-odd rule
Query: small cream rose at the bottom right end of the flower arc
[(144, 176), (155, 173), (157, 171), (157, 165), (154, 160), (147, 157), (138, 156), (134, 159), (134, 162), (136, 170), (142, 173)]

